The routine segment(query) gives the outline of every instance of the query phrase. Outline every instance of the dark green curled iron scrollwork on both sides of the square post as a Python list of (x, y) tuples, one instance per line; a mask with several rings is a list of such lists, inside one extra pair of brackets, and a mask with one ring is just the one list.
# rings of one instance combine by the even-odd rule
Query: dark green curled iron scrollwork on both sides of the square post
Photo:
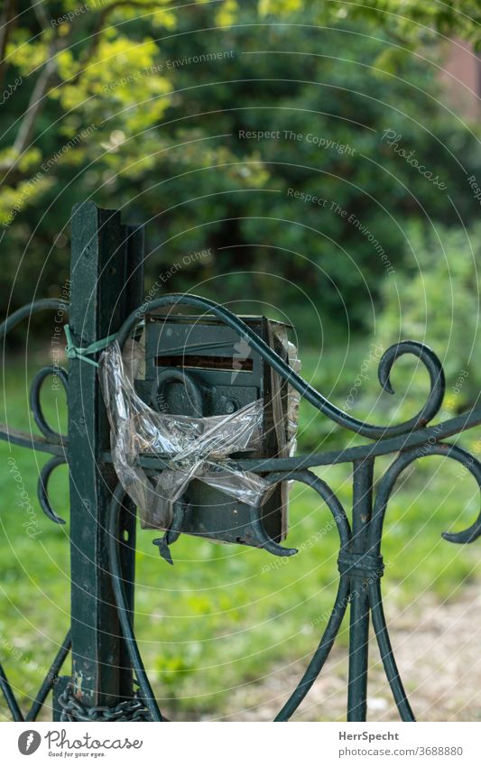
[[(332, 450), (300, 457), (246, 458), (237, 460), (235, 464), (233, 463), (233, 466), (238, 466), (241, 469), (262, 473), (265, 480), (271, 485), (287, 480), (299, 481), (309, 485), (328, 506), (328, 510), (331, 512), (338, 530), (339, 581), (335, 603), (333, 604), (328, 623), (320, 638), (317, 650), (314, 652), (298, 686), (292, 691), (291, 697), (282, 707), (275, 720), (284, 721), (289, 719), (309, 692), (316, 678), (318, 678), (319, 672), (336, 640), (340, 624), (347, 611), (347, 604), (349, 603), (351, 607), (352, 642), (350, 647), (351, 672), (349, 679), (348, 718), (350, 720), (363, 720), (365, 716), (367, 652), (364, 650), (365, 654), (363, 654), (362, 641), (365, 641), (369, 615), (372, 615), (376, 640), (384, 662), (386, 677), (393, 690), (394, 700), (399, 708), (402, 719), (413, 720), (412, 709), (402, 687), (402, 681), (395, 664), (393, 649), (384, 619), (380, 584), (383, 574), (382, 536), (384, 516), (398, 477), (407, 466), (410, 466), (420, 457), (440, 455), (457, 460), (467, 468), (467, 471), (474, 476), (477, 484), (481, 487), (481, 464), (476, 457), (469, 455), (465, 449), (445, 441), (449, 436), (454, 436), (481, 423), (481, 408), (476, 408), (452, 420), (444, 420), (439, 426), (430, 427), (430, 421), (435, 418), (440, 410), (445, 392), (445, 378), (442, 365), (438, 357), (428, 346), (414, 341), (403, 341), (391, 346), (384, 353), (379, 363), (379, 382), (384, 391), (393, 393), (390, 382), (393, 365), (400, 356), (413, 355), (425, 367), (430, 377), (430, 392), (421, 410), (410, 420), (396, 425), (378, 426), (357, 420), (347, 412), (339, 410), (338, 407), (310, 386), (310, 383), (303, 380), (301, 375), (293, 371), (242, 319), (236, 317), (228, 309), (219, 306), (214, 301), (192, 295), (167, 295), (158, 300), (153, 300), (149, 304), (144, 304), (141, 309), (132, 311), (117, 334), (120, 345), (123, 346), (127, 338), (130, 337), (141, 315), (147, 311), (171, 307), (173, 305), (193, 306), (208, 310), (217, 318), (222, 319), (230, 328), (236, 330), (240, 337), (245, 338), (248, 344), (263, 357), (268, 365), (271, 365), (284, 380), (289, 381), (291, 386), (321, 413), (338, 423), (342, 428), (354, 431), (356, 434), (370, 439), (365, 445), (355, 448)], [(58, 309), (60, 307), (65, 310), (65, 303), (60, 303), (60, 301), (56, 300), (36, 301), (16, 311), (8, 318), (0, 326), (0, 337), (5, 337), (8, 331), (14, 328), (19, 321), (23, 318), (28, 318), (36, 311)], [(51, 460), (43, 466), (39, 478), (39, 500), (43, 512), (46, 513), (51, 521), (62, 523), (63, 520), (51, 508), (47, 486), (52, 471), (63, 463), (69, 464), (69, 441), (66, 436), (51, 428), (43, 415), (40, 401), (42, 383), (53, 372), (59, 376), (60, 382), (66, 392), (68, 392), (69, 382), (67, 374), (65, 371), (54, 370), (52, 367), (44, 367), (36, 375), (32, 383), (30, 401), (33, 419), (41, 432), (41, 436), (17, 431), (4, 425), (0, 426), (0, 438), (4, 438), (19, 446), (51, 454)], [(375, 498), (373, 498), (373, 466), (375, 457), (389, 454), (393, 454), (396, 457), (380, 479)], [(102, 459), (106, 463), (112, 460), (108, 451), (102, 454)], [(153, 455), (142, 455), (139, 458), (139, 463), (149, 471), (162, 471), (166, 466), (163, 458)], [(309, 470), (310, 467), (314, 466), (327, 466), (339, 463), (353, 464), (354, 505), (351, 522), (348, 521), (347, 514), (337, 495), (319, 476), (314, 475)], [(65, 716), (73, 716), (75, 720), (136, 720), (137, 718), (153, 721), (165, 720), (157, 706), (153, 689), (143, 668), (143, 661), (135, 641), (134, 627), (125, 595), (125, 580), (120, 554), (121, 540), (118, 526), (124, 498), (125, 492), (118, 485), (113, 495), (108, 521), (110, 534), (109, 566), (116, 597), (118, 619), (122, 626), (131, 667), (139, 684), (140, 701), (139, 699), (125, 700), (119, 705), (114, 706), (111, 710), (109, 709), (107, 711), (108, 715), (97, 715), (97, 708), (91, 706), (82, 707), (78, 699), (72, 699), (71, 695), (65, 692), (61, 697), (61, 705), (65, 710)], [(172, 528), (169, 534), (171, 534), (171, 537), (175, 537), (175, 529)], [(458, 544), (473, 542), (480, 535), (481, 512), (477, 520), (466, 530), (456, 533), (443, 533), (443, 537), (446, 540)], [(160, 544), (162, 545), (162, 542)], [(353, 624), (355, 624), (353, 620), (357, 621), (358, 632), (356, 632), (356, 627), (353, 628)], [(32, 704), (31, 711), (27, 715), (28, 720), (34, 720), (35, 716), (38, 715), (45, 697), (55, 683), (55, 679), (58, 678), (60, 667), (67, 656), (69, 646), (70, 635), (68, 633), (60, 646), (60, 651), (52, 663), (51, 670), (42, 684), (41, 690)], [(0, 687), (4, 692), (14, 720), (23, 720), (23, 714), (1, 666)]]

